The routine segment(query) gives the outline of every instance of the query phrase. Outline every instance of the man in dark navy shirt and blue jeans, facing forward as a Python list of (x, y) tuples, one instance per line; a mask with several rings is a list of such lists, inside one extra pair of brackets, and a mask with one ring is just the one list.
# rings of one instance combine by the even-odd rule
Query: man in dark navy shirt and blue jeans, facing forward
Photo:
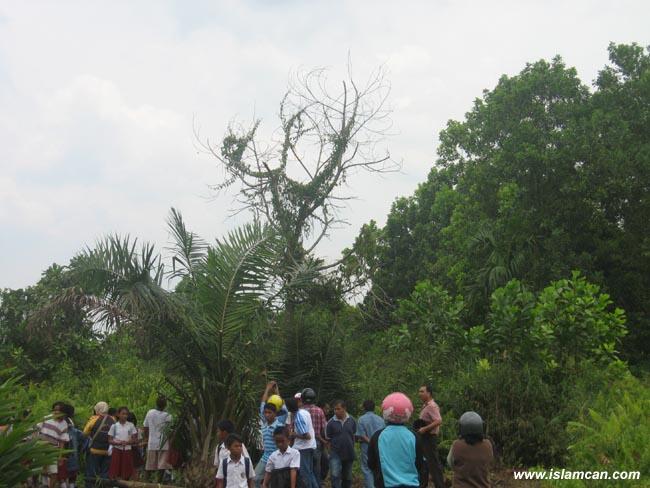
[(334, 417), (327, 422), (327, 439), (330, 442), (330, 475), (332, 488), (352, 486), (352, 463), (354, 463), (354, 434), (356, 421), (348, 415), (345, 402), (334, 402)]

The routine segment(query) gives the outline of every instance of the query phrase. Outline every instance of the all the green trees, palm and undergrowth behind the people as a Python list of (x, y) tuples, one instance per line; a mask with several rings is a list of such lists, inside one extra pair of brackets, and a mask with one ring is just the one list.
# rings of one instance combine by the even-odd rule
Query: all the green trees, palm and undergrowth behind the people
[(593, 90), (559, 57), (503, 76), (448, 123), (427, 181), (333, 265), (317, 245), (346, 174), (386, 169), (362, 151), (384, 85), (327, 99), (307, 80), (282, 104), (278, 151), (259, 151), (257, 123), (207, 146), (262, 223), (209, 244), (172, 210), (168, 255), (112, 236), (2, 291), (4, 366), (24, 375), (9, 396), (83, 419), (99, 400), (141, 416), (165, 392), (185, 482), (201, 487), (219, 419), (256, 444), (269, 379), (353, 413), (429, 382), (442, 450), (476, 410), (502, 465), (647, 477), (650, 52), (609, 53)]

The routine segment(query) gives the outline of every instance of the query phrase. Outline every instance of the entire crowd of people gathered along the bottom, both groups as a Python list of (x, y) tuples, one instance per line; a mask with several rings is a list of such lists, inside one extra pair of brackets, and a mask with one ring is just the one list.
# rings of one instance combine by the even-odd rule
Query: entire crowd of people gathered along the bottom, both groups
[[(392, 393), (381, 404), (381, 416), (372, 400), (363, 402), (358, 419), (348, 413), (343, 400), (331, 406), (316, 404), (316, 392), (305, 388), (283, 399), (276, 382), (270, 382), (259, 407), (260, 452), (253, 463), (235, 424), (217, 424), (218, 446), (214, 454), (216, 488), (322, 488), (329, 476), (332, 488), (351, 488), (353, 465), (360, 448), (364, 488), (421, 488), (429, 482), (445, 486), (439, 457), (440, 408), (432, 388), (423, 385), (419, 416), (408, 424), (413, 403), (403, 393)], [(98, 402), (83, 429), (73, 422), (74, 408), (53, 405), (52, 415), (38, 425), (38, 435), (70, 454), (48, 466), (41, 486), (75, 488), (80, 470), (79, 454), (85, 453), (85, 486), (97, 479), (146, 478), (161, 482), (172, 468), (167, 432), (172, 415), (164, 397), (149, 410), (142, 428), (127, 407), (110, 409)], [(459, 421), (459, 438), (447, 456), (454, 487), (488, 487), (488, 468), (493, 459), (491, 442), (484, 437), (483, 420), (466, 412)], [(31, 486), (38, 486), (35, 480)]]

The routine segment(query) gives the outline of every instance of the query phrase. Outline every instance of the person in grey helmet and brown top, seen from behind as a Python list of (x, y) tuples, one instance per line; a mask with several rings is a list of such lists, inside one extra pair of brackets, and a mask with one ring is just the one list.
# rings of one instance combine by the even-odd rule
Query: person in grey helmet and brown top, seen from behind
[(489, 488), (488, 470), (494, 454), (492, 443), (483, 437), (483, 419), (476, 412), (465, 412), (458, 421), (460, 439), (454, 441), (447, 463), (454, 470), (453, 486)]

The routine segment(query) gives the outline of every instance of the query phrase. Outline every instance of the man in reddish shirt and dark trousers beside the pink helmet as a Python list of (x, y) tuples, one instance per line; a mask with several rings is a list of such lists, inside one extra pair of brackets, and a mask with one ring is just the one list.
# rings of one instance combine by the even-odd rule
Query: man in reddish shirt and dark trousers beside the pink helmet
[(444, 488), (444, 475), (438, 457), (438, 433), (442, 424), (440, 407), (433, 401), (433, 388), (431, 385), (422, 385), (418, 390), (418, 396), (423, 403), (420, 420), (425, 423), (423, 427), (418, 429), (418, 433), (422, 436), (422, 449), (427, 460), (429, 475), (435, 488)]

